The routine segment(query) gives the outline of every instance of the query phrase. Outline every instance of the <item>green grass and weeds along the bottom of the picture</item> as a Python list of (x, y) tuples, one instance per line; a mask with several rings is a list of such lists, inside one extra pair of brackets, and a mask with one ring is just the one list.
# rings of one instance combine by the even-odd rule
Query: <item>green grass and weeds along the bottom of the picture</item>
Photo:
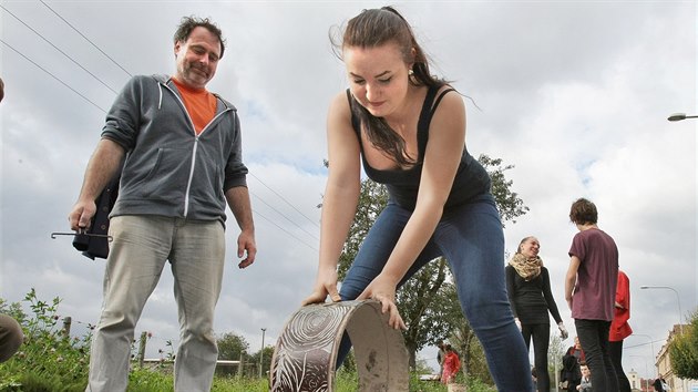
[[(14, 317), (24, 331), (24, 343), (7, 362), (0, 363), (0, 392), (82, 392), (88, 384), (91, 334), (70, 338), (59, 328), (59, 298), (42, 301), (34, 289), (24, 302), (32, 314), (23, 312), (19, 303), (7, 303), (0, 298), (0, 313)], [(461, 380), (469, 392), (493, 392), (492, 386), (476, 379)], [(356, 371), (337, 372), (335, 392), (356, 392)], [(212, 392), (267, 392), (267, 379), (216, 376)], [(174, 392), (172, 370), (168, 367), (146, 369), (134, 367), (129, 375), (127, 392)], [(446, 388), (433, 381), (410, 378), (409, 392), (445, 392)]]

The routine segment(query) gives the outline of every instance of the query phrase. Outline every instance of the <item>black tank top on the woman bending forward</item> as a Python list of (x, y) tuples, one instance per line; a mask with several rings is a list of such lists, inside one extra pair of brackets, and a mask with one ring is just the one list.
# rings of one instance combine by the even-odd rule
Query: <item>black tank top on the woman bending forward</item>
[[(422, 175), (422, 162), (424, 158), (424, 152), (427, 151), (427, 143), (429, 142), (429, 127), (431, 118), (441, 102), (441, 99), (449, 92), (455, 91), (454, 89), (448, 89), (441, 92), (439, 96), (439, 86), (431, 86), (424, 97), (422, 110), (417, 123), (417, 164), (407, 169), (386, 169), (379, 171), (371, 167), (366, 161), (363, 154), (363, 144), (361, 143), (361, 124), (359, 118), (351, 112), (351, 125), (353, 126), (357, 137), (359, 137), (359, 144), (361, 145), (361, 161), (363, 163), (363, 171), (372, 180), (386, 185), (390, 200), (399, 206), (413, 210), (417, 204), (417, 194), (419, 192), (419, 184)], [(349, 105), (358, 105), (351, 93), (347, 89), (347, 97), (349, 99)], [(435, 100), (435, 101), (434, 101)], [(434, 130), (434, 132), (438, 132)], [(446, 199), (444, 208), (459, 206), (468, 203), (475, 196), (490, 192), (490, 176), (487, 172), (480, 165), (480, 163), (468, 153), (468, 149), (463, 147), (463, 155), (461, 163), (455, 173), (453, 179), (453, 187), (451, 194)]]

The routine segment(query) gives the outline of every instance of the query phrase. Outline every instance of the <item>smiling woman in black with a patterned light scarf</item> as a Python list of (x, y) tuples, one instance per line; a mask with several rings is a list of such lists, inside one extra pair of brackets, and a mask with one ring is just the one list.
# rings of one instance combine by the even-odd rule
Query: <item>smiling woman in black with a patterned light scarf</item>
[(506, 266), (506, 291), (516, 326), (527, 349), (531, 349), (533, 338), (534, 363), (535, 368), (540, 369), (537, 389), (550, 391), (551, 379), (546, 371), (551, 333), (548, 311), (555, 319), (563, 340), (567, 339), (567, 330), (553, 299), (551, 278), (538, 257), (540, 249), (541, 244), (533, 236), (521, 240), (516, 254)]

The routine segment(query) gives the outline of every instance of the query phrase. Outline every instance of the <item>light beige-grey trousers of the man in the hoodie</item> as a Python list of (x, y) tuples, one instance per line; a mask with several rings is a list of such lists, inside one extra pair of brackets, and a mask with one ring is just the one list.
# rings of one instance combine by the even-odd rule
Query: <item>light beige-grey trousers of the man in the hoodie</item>
[(158, 216), (111, 219), (102, 314), (92, 337), (88, 392), (125, 391), (135, 324), (167, 260), (179, 316), (175, 391), (209, 391), (218, 348), (213, 331), (225, 261), (223, 225)]

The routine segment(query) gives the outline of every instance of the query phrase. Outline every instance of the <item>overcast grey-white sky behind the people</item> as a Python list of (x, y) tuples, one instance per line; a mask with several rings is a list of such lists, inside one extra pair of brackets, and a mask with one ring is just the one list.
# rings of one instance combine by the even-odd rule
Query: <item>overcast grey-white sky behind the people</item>
[[(254, 266), (236, 267), (238, 230), (228, 214), (215, 327), (243, 336), (253, 352), (266, 328), (265, 344), (274, 344), (315, 281), (325, 120), (329, 99), (347, 86), (328, 31), (384, 4), (3, 0), (0, 297), (20, 301), (33, 287), (40, 299), (62, 299), (60, 313), (75, 330), (96, 322), (104, 261), (50, 234), (69, 229), (115, 92), (129, 74), (171, 74), (181, 17), (212, 17), (227, 48), (208, 87), (240, 114), (259, 249)], [(655, 375), (650, 338), (656, 354), (679, 316), (696, 310), (698, 293), (698, 123), (667, 121), (697, 112), (696, 2), (391, 4), (413, 25), (433, 72), (474, 100), (466, 100), (471, 153), (515, 165), (507, 178), (531, 210), (506, 225), (506, 249), (528, 235), (540, 239), (572, 337), (563, 292), (576, 233), (568, 210), (578, 197), (596, 203), (630, 278), (630, 324), (640, 334), (626, 340), (624, 368)], [(177, 340), (172, 286), (167, 268), (136, 328), (153, 333), (151, 357)], [(421, 357), (433, 363), (435, 351)]]

